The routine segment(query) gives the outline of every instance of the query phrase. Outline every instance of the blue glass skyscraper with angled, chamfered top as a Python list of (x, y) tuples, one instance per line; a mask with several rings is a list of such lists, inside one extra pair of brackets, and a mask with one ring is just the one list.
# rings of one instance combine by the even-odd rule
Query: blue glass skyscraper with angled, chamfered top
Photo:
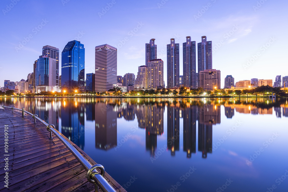
[(62, 51), (61, 88), (68, 92), (84, 86), (85, 49), (80, 41), (69, 41)]

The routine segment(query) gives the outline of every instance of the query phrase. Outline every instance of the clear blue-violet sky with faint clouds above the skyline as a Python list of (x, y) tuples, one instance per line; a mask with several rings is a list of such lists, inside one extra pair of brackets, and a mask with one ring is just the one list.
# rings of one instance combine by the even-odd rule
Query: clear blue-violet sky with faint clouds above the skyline
[(284, 0), (2, 0), (0, 87), (4, 79), (26, 79), (45, 45), (59, 48), (61, 73), (62, 49), (74, 39), (85, 47), (85, 73), (94, 72), (95, 46), (107, 43), (118, 48), (117, 74), (123, 76), (137, 75), (145, 64), (145, 43), (155, 38), (166, 83), (170, 38), (180, 43), (183, 75), (182, 43), (186, 36), (198, 43), (203, 35), (212, 41), (221, 88), (226, 75), (235, 82), (275, 81), (276, 75), (288, 75), (287, 5)]

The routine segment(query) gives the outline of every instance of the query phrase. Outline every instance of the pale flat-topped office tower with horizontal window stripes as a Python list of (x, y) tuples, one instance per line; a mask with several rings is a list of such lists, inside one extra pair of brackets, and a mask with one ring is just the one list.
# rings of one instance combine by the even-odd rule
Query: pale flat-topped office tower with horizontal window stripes
[(95, 91), (113, 89), (117, 84), (117, 49), (104, 44), (95, 47)]

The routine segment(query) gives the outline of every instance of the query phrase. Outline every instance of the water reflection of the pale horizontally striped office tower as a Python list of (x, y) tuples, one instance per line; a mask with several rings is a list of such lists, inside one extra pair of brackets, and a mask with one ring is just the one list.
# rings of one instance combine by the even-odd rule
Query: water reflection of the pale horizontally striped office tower
[(112, 105), (95, 104), (95, 147), (109, 150), (117, 146), (117, 111)]

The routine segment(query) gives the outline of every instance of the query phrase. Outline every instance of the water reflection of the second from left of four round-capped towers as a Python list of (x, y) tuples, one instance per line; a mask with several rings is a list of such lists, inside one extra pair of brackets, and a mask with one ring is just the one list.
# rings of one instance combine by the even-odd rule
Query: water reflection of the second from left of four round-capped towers
[(171, 155), (175, 155), (175, 151), (179, 151), (180, 141), (180, 109), (167, 106), (167, 148), (171, 150)]

